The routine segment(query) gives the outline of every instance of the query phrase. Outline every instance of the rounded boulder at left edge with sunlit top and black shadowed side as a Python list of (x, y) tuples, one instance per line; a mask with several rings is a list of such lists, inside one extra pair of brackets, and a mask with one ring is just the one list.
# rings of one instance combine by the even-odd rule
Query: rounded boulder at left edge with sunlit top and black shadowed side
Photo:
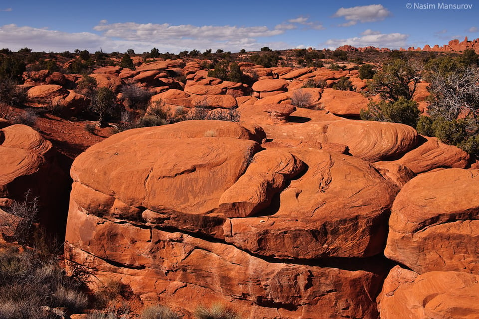
[(59, 154), (37, 131), (21, 124), (0, 129), (0, 207), (27, 192), (30, 201), (38, 196), (40, 224), (61, 237), (70, 183)]

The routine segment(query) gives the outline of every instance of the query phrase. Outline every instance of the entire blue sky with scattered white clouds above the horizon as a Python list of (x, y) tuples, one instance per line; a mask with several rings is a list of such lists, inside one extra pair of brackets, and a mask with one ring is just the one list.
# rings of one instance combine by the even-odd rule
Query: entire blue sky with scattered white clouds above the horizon
[[(412, 8), (408, 8), (411, 4)], [(427, 9), (419, 9), (429, 4)], [(472, 7), (444, 9), (442, 4)], [(62, 52), (431, 46), (479, 38), (479, 3), (463, 1), (2, 0), (0, 48)]]

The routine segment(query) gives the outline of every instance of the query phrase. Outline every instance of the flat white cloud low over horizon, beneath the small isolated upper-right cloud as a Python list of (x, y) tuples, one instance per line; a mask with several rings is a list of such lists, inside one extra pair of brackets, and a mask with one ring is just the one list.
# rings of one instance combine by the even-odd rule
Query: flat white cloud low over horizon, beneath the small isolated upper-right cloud
[(401, 33), (369, 34), (362, 35), (360, 37), (352, 37), (349, 39), (329, 39), (322, 44), (331, 49), (335, 49), (346, 44), (355, 47), (375, 46), (397, 49), (406, 46), (406, 40), (408, 37), (409, 35)]

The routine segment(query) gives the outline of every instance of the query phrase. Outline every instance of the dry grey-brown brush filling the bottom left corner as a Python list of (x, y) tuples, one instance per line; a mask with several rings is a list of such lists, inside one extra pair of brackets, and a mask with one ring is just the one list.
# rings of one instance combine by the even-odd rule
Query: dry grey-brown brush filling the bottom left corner
[(66, 274), (56, 256), (14, 247), (0, 251), (0, 318), (49, 318), (42, 306), (81, 311), (87, 305), (82, 285)]

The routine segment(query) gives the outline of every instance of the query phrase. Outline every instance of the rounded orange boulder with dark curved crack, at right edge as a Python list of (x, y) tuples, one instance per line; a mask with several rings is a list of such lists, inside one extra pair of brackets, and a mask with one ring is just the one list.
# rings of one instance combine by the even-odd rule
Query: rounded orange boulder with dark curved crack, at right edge
[(420, 174), (399, 192), (389, 220), (386, 257), (417, 273), (479, 274), (479, 170)]

